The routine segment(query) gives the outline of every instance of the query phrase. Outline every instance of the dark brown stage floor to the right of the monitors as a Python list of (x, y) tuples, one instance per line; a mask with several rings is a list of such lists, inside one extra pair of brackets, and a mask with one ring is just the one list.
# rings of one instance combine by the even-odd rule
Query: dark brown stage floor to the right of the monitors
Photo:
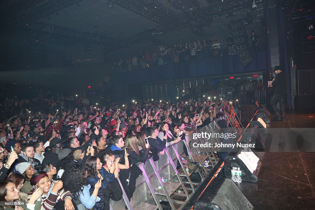
[(292, 110), (267, 124), (258, 182), (238, 184), (255, 209), (315, 209), (314, 113)]

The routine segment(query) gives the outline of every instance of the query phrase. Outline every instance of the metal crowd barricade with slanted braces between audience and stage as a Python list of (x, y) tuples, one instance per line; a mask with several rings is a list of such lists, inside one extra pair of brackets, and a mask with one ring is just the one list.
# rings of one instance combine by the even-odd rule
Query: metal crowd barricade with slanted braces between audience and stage
[[(184, 206), (189, 198), (195, 193), (196, 189), (202, 184), (204, 176), (207, 175), (217, 164), (216, 147), (194, 147), (193, 143), (208, 145), (220, 143), (221, 139), (218, 135), (212, 135), (211, 138), (198, 137), (201, 132), (220, 133), (216, 120), (203, 128), (198, 128), (196, 133), (187, 135), (186, 139), (177, 144), (170, 145), (165, 149), (165, 155), (159, 156), (156, 162), (150, 158), (146, 163), (138, 163), (138, 167), (142, 171), (142, 176), (136, 180), (136, 190), (129, 202), (127, 195), (123, 190), (123, 199), (120, 201), (111, 201), (112, 209), (123, 209), (125, 206), (131, 209), (161, 209), (160, 201), (168, 201), (171, 209), (180, 209)], [(194, 138), (194, 136), (197, 138)], [(202, 170), (198, 170), (201, 177), (200, 182), (194, 182), (190, 179), (191, 170), (186, 171), (185, 165), (182, 163), (181, 157), (184, 155), (183, 144), (186, 145), (191, 161), (197, 163)], [(181, 148), (181, 149), (179, 149)], [(180, 151), (180, 152), (179, 152)], [(204, 162), (209, 160), (209, 167), (205, 167)], [(180, 172), (176, 165), (179, 163)], [(168, 180), (163, 182), (162, 178)], [(120, 180), (118, 179), (119, 184)], [(121, 186), (122, 187), (122, 186)], [(180, 199), (179, 199), (180, 198)]]

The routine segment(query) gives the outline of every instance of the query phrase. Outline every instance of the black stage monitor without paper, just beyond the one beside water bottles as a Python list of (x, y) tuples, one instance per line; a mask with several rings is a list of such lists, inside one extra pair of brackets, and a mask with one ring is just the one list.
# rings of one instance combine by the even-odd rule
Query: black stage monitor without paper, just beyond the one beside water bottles
[(266, 140), (257, 128), (245, 128), (241, 138), (242, 143), (255, 144), (256, 150), (264, 150), (266, 148)]

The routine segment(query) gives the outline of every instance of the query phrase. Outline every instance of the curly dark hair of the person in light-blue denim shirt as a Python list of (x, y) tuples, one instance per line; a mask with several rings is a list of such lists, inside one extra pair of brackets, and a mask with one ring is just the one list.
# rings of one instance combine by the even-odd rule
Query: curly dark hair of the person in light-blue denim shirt
[(78, 197), (79, 193), (83, 191), (83, 186), (88, 185), (85, 172), (85, 167), (82, 164), (75, 164), (66, 167), (62, 174), (63, 188), (69, 190), (74, 197)]

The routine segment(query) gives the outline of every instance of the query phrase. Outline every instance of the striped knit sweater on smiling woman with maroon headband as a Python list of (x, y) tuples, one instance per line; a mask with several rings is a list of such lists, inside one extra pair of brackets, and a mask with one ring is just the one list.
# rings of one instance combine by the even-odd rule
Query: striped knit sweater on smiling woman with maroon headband
[[(53, 189), (55, 184), (55, 181), (52, 180), (51, 181), (51, 185), (50, 185), (50, 189)], [(31, 189), (31, 191), (28, 193), (28, 197), (27, 197), (27, 202), (30, 200), (33, 192), (36, 190), (36, 187), (33, 186), (33, 188)], [(70, 191), (66, 191), (64, 189), (61, 189), (58, 191), (57, 195), (54, 195), (53, 193), (50, 193), (48, 198), (46, 198), (44, 195), (42, 195), (42, 197), (40, 197), (36, 202), (36, 206), (34, 204), (33, 207), (30, 207), (30, 205), (27, 205), (28, 208), (30, 209), (35, 209), (35, 210), (52, 210), (55, 206), (56, 201), (65, 201), (66, 197), (71, 197), (72, 199), (72, 193)], [(41, 205), (39, 206), (39, 202), (41, 201)]]

